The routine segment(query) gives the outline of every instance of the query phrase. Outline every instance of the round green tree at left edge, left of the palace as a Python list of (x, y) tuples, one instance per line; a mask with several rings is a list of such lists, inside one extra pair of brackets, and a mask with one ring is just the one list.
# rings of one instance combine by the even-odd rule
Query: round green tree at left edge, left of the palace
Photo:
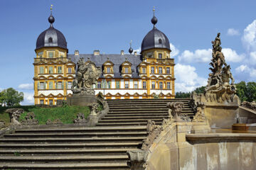
[(24, 94), (13, 88), (4, 89), (0, 94), (0, 103), (4, 106), (18, 106), (23, 101)]

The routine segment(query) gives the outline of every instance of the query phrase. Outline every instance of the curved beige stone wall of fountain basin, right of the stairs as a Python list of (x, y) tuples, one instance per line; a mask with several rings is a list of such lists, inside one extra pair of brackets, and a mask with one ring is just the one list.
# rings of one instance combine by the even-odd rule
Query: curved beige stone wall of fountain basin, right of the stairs
[(173, 123), (151, 145), (146, 169), (255, 168), (256, 134), (206, 133), (208, 130), (203, 123)]

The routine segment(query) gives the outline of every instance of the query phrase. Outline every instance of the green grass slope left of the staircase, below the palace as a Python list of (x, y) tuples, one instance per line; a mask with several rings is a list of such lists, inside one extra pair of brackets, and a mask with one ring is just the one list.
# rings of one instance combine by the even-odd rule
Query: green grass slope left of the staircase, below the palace
[[(9, 125), (10, 119), (8, 113), (4, 111), (10, 107), (0, 107), (0, 120), (4, 120)], [(48, 119), (60, 119), (63, 124), (72, 124), (78, 113), (84, 113), (85, 118), (90, 114), (90, 109), (84, 106), (63, 106), (59, 108), (39, 108), (36, 106), (16, 106), (12, 108), (23, 108), (20, 121), (23, 120), (28, 112), (34, 112), (39, 125), (46, 125)]]

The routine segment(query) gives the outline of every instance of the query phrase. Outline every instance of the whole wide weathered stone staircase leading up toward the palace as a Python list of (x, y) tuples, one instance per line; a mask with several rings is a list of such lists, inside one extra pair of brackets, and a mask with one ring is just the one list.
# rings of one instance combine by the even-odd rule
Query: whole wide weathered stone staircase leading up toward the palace
[(146, 123), (168, 117), (166, 103), (186, 99), (107, 100), (110, 112), (95, 127), (19, 128), (0, 138), (0, 169), (129, 169), (127, 150), (146, 138)]

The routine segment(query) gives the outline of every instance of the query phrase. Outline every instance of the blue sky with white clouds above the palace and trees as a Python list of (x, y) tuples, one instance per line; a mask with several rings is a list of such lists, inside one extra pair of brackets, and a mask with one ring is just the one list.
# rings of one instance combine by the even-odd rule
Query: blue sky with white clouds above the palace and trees
[(36, 38), (49, 27), (50, 4), (69, 53), (127, 52), (130, 40), (139, 50), (156, 6), (156, 27), (169, 38), (176, 62), (176, 91), (206, 85), (210, 42), (218, 32), (235, 82), (256, 79), (256, 1), (1, 0), (0, 89), (23, 91), (23, 104), (33, 103)]

